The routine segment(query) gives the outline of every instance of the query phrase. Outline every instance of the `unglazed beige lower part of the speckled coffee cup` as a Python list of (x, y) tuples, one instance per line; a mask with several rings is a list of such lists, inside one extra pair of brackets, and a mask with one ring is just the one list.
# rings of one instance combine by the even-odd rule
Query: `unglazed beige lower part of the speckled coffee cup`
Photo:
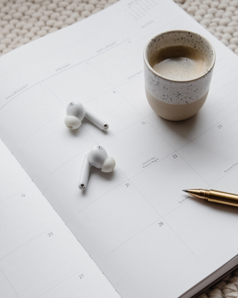
[(173, 105), (158, 100), (153, 95), (151, 95), (151, 93), (145, 87), (145, 94), (151, 108), (160, 117), (172, 121), (185, 120), (195, 115), (205, 103), (208, 91), (203, 97), (196, 100), (194, 103), (188, 103), (186, 105)]

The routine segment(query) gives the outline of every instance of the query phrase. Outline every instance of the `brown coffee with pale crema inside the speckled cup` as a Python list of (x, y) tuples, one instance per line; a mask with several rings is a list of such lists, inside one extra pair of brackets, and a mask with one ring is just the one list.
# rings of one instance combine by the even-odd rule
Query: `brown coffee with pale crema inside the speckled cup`
[(189, 46), (168, 46), (150, 57), (149, 63), (159, 75), (179, 81), (200, 77), (210, 66), (204, 54)]

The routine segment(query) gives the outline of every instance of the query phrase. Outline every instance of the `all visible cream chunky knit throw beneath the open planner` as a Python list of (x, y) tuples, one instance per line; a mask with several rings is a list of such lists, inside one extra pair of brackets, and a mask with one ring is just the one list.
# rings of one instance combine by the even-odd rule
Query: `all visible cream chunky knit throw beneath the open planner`
[[(116, 1), (0, 0), (0, 55), (87, 18)], [(238, 55), (238, 0), (174, 1)], [(238, 298), (238, 269), (198, 297)]]

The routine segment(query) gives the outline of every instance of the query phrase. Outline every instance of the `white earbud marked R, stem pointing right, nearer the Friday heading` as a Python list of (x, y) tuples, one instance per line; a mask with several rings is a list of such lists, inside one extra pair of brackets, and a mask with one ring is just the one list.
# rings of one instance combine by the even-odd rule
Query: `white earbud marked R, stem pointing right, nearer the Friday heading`
[(82, 124), (82, 120), (87, 118), (89, 121), (93, 122), (101, 130), (108, 130), (108, 124), (100, 119), (98, 116), (84, 108), (82, 103), (78, 101), (71, 101), (66, 108), (65, 125), (70, 129), (76, 129)]

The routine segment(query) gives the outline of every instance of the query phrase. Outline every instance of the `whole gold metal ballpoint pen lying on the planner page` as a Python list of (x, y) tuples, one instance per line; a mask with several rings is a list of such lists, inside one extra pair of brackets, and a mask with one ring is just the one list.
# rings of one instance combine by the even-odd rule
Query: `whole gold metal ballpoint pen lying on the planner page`
[(235, 195), (234, 193), (224, 193), (223, 191), (213, 189), (183, 189), (183, 191), (196, 198), (207, 200), (209, 202), (238, 207), (238, 195)]

